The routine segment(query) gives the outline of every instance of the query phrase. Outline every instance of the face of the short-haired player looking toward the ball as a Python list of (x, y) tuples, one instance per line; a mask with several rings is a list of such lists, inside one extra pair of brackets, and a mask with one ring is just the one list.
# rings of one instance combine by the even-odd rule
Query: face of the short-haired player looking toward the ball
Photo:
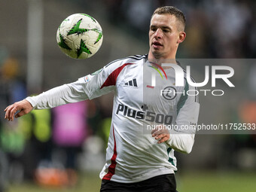
[(172, 14), (154, 14), (149, 29), (149, 59), (175, 59), (178, 44), (186, 36), (178, 31), (178, 24)]

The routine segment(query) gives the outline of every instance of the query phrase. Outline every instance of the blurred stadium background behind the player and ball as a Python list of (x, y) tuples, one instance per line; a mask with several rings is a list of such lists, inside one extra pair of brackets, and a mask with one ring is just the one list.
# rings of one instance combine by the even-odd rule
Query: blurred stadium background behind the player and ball
[[(243, 59), (239, 84), (228, 96), (201, 98), (199, 123), (256, 123), (256, 23), (253, 0), (8, 0), (0, 2), (0, 191), (99, 191), (99, 171), (111, 117), (112, 95), (70, 105), (66, 123), (79, 118), (77, 143), (63, 142), (59, 111), (43, 110), (14, 122), (5, 107), (24, 97), (76, 81), (108, 62), (148, 53), (152, 11), (174, 5), (187, 17), (184, 59)], [(86, 13), (102, 26), (95, 56), (75, 60), (56, 44), (56, 29), (70, 14)], [(41, 24), (40, 24), (41, 23)], [(28, 67), (29, 66), (29, 67)], [(194, 65), (194, 77), (200, 77)], [(199, 79), (202, 80), (202, 79)], [(81, 105), (80, 105), (81, 106)], [(68, 111), (69, 111), (68, 110)], [(79, 112), (78, 112), (79, 111)], [(60, 114), (60, 113), (59, 113)], [(82, 128), (81, 128), (82, 127)], [(60, 130), (58, 130), (60, 129)], [(65, 134), (64, 134), (65, 135)], [(65, 140), (65, 139), (64, 139)], [(191, 154), (178, 154), (179, 191), (255, 191), (256, 135), (201, 134)]]

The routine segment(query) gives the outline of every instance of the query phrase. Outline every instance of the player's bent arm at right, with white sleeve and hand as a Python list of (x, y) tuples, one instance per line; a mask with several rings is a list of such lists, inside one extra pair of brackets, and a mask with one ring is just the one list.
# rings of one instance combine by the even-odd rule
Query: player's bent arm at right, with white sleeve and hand
[[(195, 90), (194, 87), (189, 87)], [(191, 95), (192, 92), (190, 91)], [(166, 142), (166, 144), (175, 151), (189, 154), (194, 145), (194, 136), (196, 130), (200, 104), (197, 96), (181, 95), (177, 105), (177, 118), (175, 121), (175, 130), (166, 130), (163, 126), (152, 131), (152, 136), (158, 140), (157, 143)]]

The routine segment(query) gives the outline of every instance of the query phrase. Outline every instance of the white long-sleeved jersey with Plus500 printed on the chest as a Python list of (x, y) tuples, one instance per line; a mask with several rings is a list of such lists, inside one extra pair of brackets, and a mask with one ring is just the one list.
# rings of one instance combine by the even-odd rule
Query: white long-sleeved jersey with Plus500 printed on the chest
[[(147, 55), (130, 56), (109, 63), (103, 69), (72, 84), (56, 87), (39, 96), (28, 97), (34, 108), (52, 108), (69, 102), (93, 99), (114, 91), (106, 163), (100, 178), (133, 183), (157, 175), (174, 173), (174, 151), (189, 153), (194, 145), (194, 132), (171, 132), (167, 142), (157, 144), (151, 136), (155, 124), (190, 125), (197, 123), (199, 102), (195, 91), (184, 79), (184, 87), (175, 87), (175, 72), (167, 69), (163, 86), (152, 87), (145, 72)], [(146, 67), (146, 68), (145, 68)], [(175, 90), (176, 93), (161, 90)], [(194, 94), (195, 95), (195, 94)], [(182, 130), (178, 130), (182, 132)]]

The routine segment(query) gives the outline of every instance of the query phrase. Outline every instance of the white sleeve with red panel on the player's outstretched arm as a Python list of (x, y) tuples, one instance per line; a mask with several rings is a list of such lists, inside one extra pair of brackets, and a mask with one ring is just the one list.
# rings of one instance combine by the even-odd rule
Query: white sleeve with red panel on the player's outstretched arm
[(33, 108), (43, 109), (93, 99), (115, 90), (117, 76), (122, 69), (119, 62), (114, 62), (78, 81), (47, 90), (38, 96), (29, 96), (26, 100)]

